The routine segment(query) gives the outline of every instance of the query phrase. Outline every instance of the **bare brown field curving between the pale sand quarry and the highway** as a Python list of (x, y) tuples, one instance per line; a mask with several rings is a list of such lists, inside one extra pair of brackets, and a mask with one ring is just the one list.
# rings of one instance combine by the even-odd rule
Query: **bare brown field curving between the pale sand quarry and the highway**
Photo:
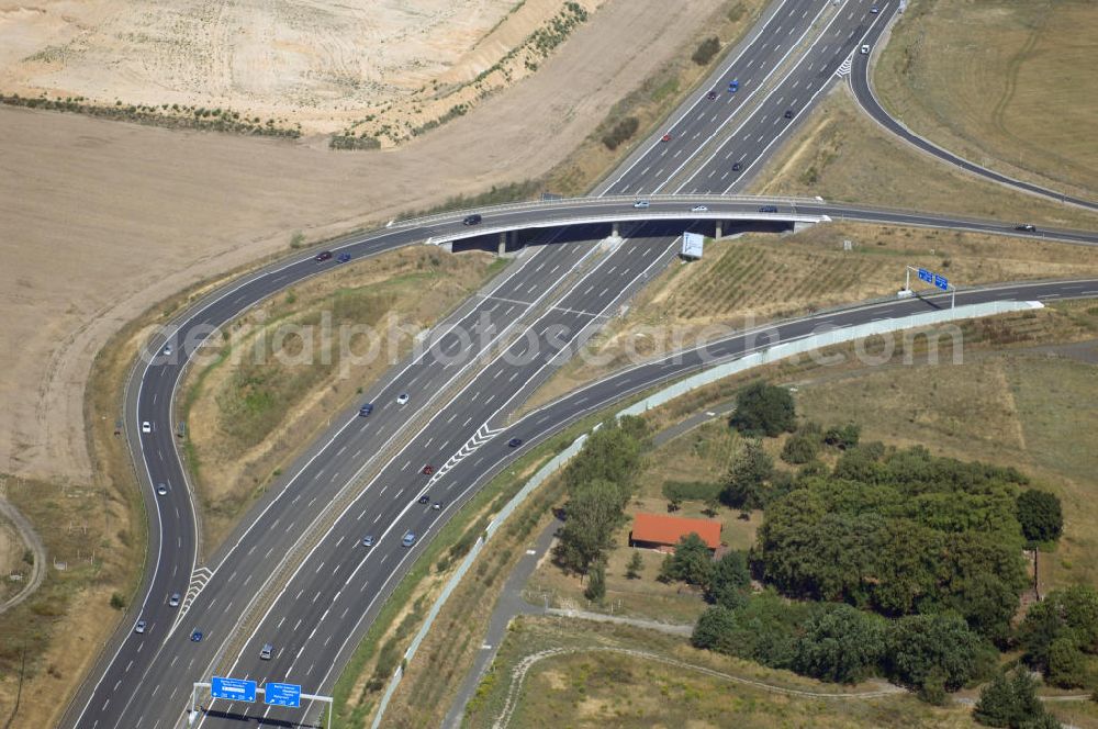
[[(479, 4), (495, 8), (498, 19), (508, 3)], [(0, 472), (92, 478), (83, 385), (96, 352), (125, 322), (195, 281), (285, 250), (293, 231), (318, 239), (452, 194), (539, 177), (615, 101), (693, 47), (722, 5), (607, 0), (536, 74), (393, 150), (340, 153), (307, 141), (0, 108)], [(30, 38), (30, 29), (53, 23), (48, 43), (58, 45), (81, 27), (94, 35), (134, 12), (130, 2), (0, 8), (0, 53), (9, 59), (33, 52), (13, 52), (19, 27)], [(120, 55), (119, 64), (141, 68), (131, 56)], [(5, 68), (11, 72), (11, 63)], [(130, 81), (122, 76), (122, 86), (111, 87), (103, 76), (71, 72), (107, 96)], [(223, 77), (211, 74), (219, 88)]]

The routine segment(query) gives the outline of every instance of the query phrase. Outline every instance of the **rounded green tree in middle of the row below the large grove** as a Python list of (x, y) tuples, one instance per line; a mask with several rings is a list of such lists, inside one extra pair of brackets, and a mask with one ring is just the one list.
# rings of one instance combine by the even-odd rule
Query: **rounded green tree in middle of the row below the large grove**
[(805, 624), (793, 669), (824, 681), (858, 683), (877, 669), (884, 649), (881, 618), (830, 604)]

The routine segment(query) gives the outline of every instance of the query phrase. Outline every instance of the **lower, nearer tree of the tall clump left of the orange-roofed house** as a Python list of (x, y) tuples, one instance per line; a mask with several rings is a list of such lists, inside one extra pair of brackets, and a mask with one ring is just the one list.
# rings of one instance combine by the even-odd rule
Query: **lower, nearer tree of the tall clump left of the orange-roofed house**
[(610, 535), (621, 519), (620, 491), (601, 479), (578, 485), (564, 514), (557, 562), (574, 572), (586, 572), (609, 546)]

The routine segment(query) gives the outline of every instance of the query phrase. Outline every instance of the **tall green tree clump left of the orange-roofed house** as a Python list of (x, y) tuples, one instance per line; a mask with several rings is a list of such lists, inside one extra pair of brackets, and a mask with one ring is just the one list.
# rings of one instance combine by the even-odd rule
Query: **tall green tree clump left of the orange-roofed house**
[(554, 552), (561, 567), (586, 573), (602, 560), (632, 495), (646, 427), (637, 417), (607, 420), (587, 438), (564, 471), (569, 500)]

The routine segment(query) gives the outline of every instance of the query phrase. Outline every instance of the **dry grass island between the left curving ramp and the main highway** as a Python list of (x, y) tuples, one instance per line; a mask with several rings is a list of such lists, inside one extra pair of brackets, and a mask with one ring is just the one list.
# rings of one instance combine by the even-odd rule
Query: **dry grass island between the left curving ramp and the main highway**
[[(180, 399), (204, 551), (217, 548), (333, 413), (407, 352), (408, 333), (432, 326), (468, 298), (500, 269), (496, 261), (504, 259), (428, 246), (352, 261), (250, 310), (229, 327), (228, 340), (213, 343), (203, 352), (210, 363), (189, 372)], [(328, 325), (321, 324), (325, 318)], [(345, 352), (341, 332), (350, 326), (369, 327), (372, 335), (348, 338)], [(298, 332), (311, 337), (307, 354)], [(374, 346), (377, 355), (368, 356)]]

